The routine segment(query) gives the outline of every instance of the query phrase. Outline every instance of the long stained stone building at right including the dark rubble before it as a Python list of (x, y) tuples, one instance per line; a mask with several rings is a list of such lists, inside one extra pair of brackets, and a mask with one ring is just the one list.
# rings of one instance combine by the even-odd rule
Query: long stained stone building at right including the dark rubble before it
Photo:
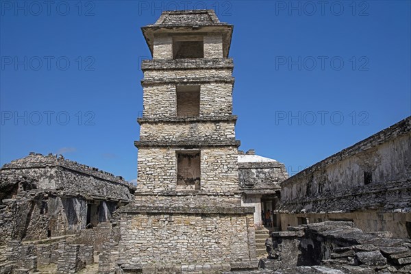
[(411, 273), (411, 116), (280, 186), (261, 273)]

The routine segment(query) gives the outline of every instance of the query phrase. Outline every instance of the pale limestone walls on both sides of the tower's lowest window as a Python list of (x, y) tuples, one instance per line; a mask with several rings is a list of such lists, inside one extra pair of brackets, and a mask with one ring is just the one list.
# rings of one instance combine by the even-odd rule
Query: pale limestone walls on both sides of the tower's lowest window
[[(175, 190), (178, 148), (138, 149), (138, 192)], [(213, 193), (238, 190), (236, 147), (201, 149), (201, 191)]]

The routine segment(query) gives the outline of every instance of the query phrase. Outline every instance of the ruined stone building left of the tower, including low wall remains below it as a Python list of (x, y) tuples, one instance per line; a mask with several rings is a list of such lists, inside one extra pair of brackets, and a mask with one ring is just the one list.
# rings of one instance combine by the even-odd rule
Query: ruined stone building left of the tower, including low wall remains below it
[(69, 273), (71, 261), (63, 255), (71, 251), (90, 264), (92, 246), (66, 241), (75, 243), (75, 234), (107, 223), (134, 199), (134, 190), (122, 177), (62, 155), (30, 153), (5, 164), (0, 170), (0, 273), (34, 273), (50, 263)]

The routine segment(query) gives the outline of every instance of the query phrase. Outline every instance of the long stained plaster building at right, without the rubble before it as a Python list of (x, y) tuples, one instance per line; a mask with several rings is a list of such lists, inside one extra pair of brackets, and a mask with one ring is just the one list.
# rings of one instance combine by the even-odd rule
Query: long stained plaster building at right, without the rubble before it
[(411, 236), (411, 117), (282, 182), (282, 227), (351, 220)]

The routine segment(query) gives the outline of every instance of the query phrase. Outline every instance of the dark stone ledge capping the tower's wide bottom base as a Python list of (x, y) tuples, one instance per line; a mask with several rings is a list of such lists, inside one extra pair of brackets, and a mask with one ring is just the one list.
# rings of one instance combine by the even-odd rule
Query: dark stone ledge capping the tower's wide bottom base
[(220, 208), (211, 206), (186, 207), (186, 206), (125, 206), (121, 213), (184, 213), (184, 214), (249, 214), (254, 212), (253, 207), (236, 206)]

